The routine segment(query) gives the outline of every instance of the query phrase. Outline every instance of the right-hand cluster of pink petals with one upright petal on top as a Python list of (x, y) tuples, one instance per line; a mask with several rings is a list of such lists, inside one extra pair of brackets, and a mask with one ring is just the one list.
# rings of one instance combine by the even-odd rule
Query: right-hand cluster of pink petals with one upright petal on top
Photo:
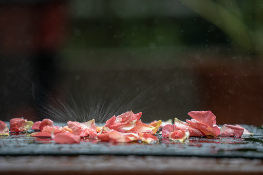
[[(191, 111), (188, 113), (191, 120), (186, 120), (187, 122), (182, 122), (177, 118), (174, 119), (174, 124), (167, 124), (162, 130), (163, 137), (172, 138), (176, 135), (177, 139), (182, 141), (187, 138), (188, 134), (182, 134), (183, 131), (188, 131), (189, 136), (230, 136), (230, 137), (241, 137), (242, 135), (251, 135), (244, 127), (240, 125), (230, 125), (225, 124), (220, 128), (216, 124), (216, 116), (211, 111)], [(176, 134), (176, 132), (182, 132)]]

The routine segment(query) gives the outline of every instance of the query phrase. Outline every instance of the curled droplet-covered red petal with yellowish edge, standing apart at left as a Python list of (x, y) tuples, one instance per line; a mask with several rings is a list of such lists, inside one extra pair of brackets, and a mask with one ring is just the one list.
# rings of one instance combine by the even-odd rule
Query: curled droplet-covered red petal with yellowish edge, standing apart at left
[(15, 118), (11, 119), (9, 124), (11, 132), (19, 133), (28, 131), (33, 125), (33, 122), (21, 118)]

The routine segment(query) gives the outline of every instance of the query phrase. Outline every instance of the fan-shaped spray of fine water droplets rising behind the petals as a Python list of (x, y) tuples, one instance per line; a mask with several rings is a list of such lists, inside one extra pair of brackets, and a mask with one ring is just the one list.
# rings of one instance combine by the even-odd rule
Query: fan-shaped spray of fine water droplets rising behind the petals
[[(74, 90), (65, 90), (62, 93), (53, 89), (46, 94), (45, 102), (38, 102), (40, 118), (49, 118), (58, 122), (79, 121), (86, 122), (95, 119), (96, 122), (105, 122), (113, 115), (127, 111), (144, 112), (152, 105), (150, 101), (162, 93), (167, 83), (152, 80), (144, 85), (131, 82), (122, 86), (112, 83), (99, 88), (85, 88), (76, 85)], [(35, 96), (42, 96), (36, 91)]]

